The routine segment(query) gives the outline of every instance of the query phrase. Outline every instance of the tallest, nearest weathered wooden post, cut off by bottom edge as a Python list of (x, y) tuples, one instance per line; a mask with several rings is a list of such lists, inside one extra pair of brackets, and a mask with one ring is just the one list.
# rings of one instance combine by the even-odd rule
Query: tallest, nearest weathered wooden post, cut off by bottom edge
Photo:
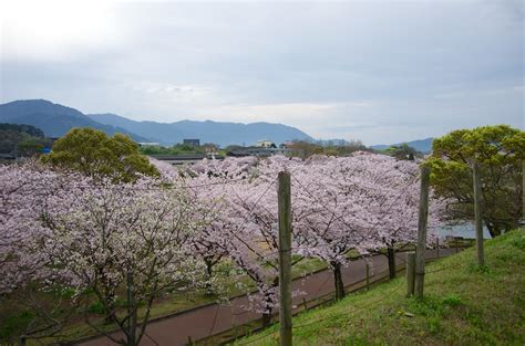
[(279, 172), (279, 323), (280, 345), (291, 346), (291, 197), (290, 174)]

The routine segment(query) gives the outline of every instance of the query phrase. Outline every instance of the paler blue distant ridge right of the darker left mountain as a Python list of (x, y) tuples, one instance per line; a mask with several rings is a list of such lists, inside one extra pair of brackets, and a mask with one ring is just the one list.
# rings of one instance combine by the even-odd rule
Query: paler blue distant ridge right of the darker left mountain
[(135, 122), (116, 114), (89, 114), (99, 123), (123, 127), (153, 141), (172, 145), (187, 138), (198, 138), (200, 143), (214, 143), (219, 146), (253, 145), (260, 139), (269, 139), (277, 144), (303, 139), (313, 140), (300, 129), (282, 124), (270, 123), (223, 123), (223, 122), (193, 122), (176, 123)]

